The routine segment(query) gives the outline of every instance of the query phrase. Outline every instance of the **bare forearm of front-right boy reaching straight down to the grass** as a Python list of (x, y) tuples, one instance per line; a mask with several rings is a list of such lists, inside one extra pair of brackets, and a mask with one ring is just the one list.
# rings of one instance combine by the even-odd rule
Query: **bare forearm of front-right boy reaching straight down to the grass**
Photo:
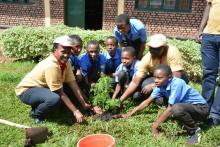
[(156, 138), (159, 137), (159, 126), (165, 122), (169, 116), (172, 114), (172, 105), (168, 105), (167, 109), (157, 118), (157, 120), (153, 123), (151, 127), (151, 132), (154, 134)]

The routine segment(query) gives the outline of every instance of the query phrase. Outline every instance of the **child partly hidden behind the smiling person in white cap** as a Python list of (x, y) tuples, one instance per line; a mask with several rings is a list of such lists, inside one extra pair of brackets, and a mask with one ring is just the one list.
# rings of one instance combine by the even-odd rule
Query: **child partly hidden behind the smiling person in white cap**
[(71, 50), (71, 56), (69, 62), (72, 65), (73, 74), (76, 77), (76, 81), (80, 82), (82, 80), (82, 75), (80, 73), (79, 59), (78, 56), (82, 51), (83, 43), (82, 39), (78, 35), (70, 35), (73, 48)]

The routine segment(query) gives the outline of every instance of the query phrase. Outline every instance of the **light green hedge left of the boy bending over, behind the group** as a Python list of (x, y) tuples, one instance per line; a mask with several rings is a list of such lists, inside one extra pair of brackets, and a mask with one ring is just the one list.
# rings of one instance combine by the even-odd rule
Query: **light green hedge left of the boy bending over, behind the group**
[(65, 25), (51, 27), (19, 26), (5, 30), (1, 34), (1, 46), (4, 54), (25, 60), (36, 60), (48, 56), (52, 49), (53, 40), (61, 35), (79, 35), (84, 46), (89, 40), (98, 40), (103, 48), (105, 38), (112, 35), (110, 31), (85, 31)]

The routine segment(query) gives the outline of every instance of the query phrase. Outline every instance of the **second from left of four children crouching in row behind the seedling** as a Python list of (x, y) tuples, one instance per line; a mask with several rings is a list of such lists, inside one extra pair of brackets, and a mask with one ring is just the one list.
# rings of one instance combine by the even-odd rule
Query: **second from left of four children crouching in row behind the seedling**
[(80, 72), (89, 89), (95, 86), (100, 74), (105, 73), (106, 59), (99, 51), (98, 41), (92, 40), (87, 45), (87, 52), (80, 57)]

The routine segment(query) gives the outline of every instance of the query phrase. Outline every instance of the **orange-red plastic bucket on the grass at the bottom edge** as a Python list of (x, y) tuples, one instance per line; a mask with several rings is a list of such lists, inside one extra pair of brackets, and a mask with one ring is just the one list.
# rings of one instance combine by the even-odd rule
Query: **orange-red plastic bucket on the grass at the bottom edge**
[(115, 138), (108, 134), (93, 134), (80, 139), (77, 147), (114, 147)]

